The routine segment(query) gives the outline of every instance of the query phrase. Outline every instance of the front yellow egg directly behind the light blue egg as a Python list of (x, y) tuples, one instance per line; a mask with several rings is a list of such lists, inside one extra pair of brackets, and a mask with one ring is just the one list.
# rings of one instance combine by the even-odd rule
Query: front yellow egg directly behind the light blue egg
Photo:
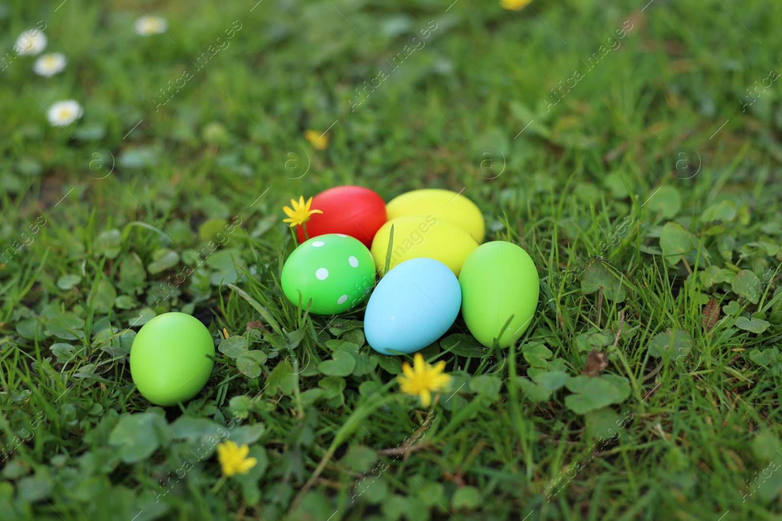
[(389, 236), (393, 226), (393, 247), (389, 269), (417, 257), (436, 259), (459, 276), (461, 265), (475, 248), (470, 234), (436, 216), (403, 216), (384, 224), (372, 240), (372, 258), (380, 273), (386, 267)]

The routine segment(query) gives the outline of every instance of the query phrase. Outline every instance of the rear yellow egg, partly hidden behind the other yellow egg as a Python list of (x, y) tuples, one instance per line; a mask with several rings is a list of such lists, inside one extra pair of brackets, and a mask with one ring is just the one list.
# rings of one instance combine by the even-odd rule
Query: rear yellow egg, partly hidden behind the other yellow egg
[(388, 202), (386, 213), (389, 220), (401, 216), (435, 216), (465, 230), (479, 243), (486, 232), (483, 215), (475, 203), (450, 190), (426, 188), (409, 191)]

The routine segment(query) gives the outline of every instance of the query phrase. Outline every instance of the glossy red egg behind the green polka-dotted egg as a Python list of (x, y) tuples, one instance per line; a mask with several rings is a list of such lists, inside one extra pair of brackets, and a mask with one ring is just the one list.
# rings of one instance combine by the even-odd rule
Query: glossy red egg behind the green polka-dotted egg
[(369, 248), (378, 228), (386, 223), (386, 203), (369, 188), (356, 186), (333, 187), (312, 198), (314, 213), (303, 227), (297, 227), (299, 242), (324, 234), (346, 234), (356, 237)]

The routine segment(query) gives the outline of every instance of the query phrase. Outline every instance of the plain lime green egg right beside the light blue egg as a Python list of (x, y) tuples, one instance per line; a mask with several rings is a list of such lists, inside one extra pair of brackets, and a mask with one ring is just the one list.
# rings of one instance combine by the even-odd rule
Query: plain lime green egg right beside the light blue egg
[(459, 285), (461, 316), (486, 347), (499, 337), (500, 347), (507, 348), (532, 323), (540, 279), (533, 259), (516, 244), (493, 241), (475, 248), (461, 266)]

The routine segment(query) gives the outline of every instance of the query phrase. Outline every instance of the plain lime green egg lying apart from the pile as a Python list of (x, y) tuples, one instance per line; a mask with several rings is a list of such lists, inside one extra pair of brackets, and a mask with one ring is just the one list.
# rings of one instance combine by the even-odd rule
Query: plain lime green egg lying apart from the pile
[(199, 319), (163, 313), (145, 323), (131, 346), (131, 377), (155, 405), (175, 405), (198, 394), (212, 374), (214, 341)]

